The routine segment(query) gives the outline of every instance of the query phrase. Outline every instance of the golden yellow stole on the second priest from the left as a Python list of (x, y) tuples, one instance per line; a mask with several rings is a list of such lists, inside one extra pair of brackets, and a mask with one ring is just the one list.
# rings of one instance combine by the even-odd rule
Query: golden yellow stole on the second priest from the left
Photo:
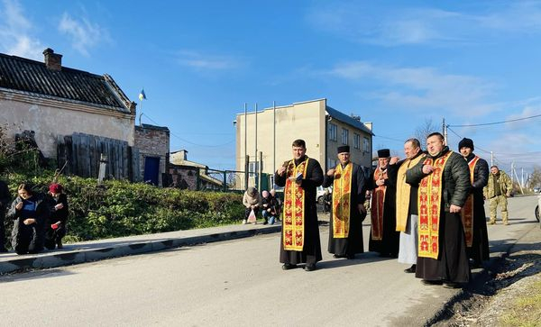
[(344, 239), (349, 235), (352, 201), (353, 163), (344, 168), (338, 164), (333, 182), (333, 237)]

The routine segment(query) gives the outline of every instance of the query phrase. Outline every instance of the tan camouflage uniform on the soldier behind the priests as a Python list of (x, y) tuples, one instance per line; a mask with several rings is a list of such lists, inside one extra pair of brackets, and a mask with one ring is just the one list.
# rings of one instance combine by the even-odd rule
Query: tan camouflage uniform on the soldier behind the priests
[(504, 224), (509, 224), (507, 197), (510, 196), (512, 187), (511, 178), (503, 170), (496, 175), (492, 173), (489, 175), (489, 183), (483, 188), (482, 193), (490, 201), (491, 224), (496, 223), (498, 205), (501, 206), (501, 220)]

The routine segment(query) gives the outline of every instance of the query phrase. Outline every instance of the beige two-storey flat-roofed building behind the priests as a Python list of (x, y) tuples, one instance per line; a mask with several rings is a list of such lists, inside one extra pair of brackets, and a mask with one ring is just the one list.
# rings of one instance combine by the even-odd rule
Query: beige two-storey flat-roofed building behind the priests
[[(234, 123), (239, 171), (245, 170), (248, 156), (250, 173), (261, 171), (272, 177), (285, 160), (292, 158), (291, 143), (296, 139), (307, 142), (307, 156), (317, 159), (324, 169), (335, 167), (336, 150), (343, 145), (350, 146), (353, 162), (371, 167), (372, 124), (336, 110), (327, 105), (326, 99), (236, 114)], [(249, 185), (255, 184), (252, 176)]]

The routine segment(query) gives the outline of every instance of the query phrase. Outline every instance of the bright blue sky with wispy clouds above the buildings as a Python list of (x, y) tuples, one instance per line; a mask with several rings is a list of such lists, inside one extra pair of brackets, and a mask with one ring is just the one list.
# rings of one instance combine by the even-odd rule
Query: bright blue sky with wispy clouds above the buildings
[(372, 122), (376, 149), (402, 155), (445, 118), (453, 150), (472, 138), (508, 172), (541, 159), (541, 117), (457, 126), (541, 114), (541, 1), (2, 0), (0, 16), (1, 52), (50, 47), (133, 101), (144, 87), (142, 123), (211, 168), (234, 168), (244, 103), (323, 97)]

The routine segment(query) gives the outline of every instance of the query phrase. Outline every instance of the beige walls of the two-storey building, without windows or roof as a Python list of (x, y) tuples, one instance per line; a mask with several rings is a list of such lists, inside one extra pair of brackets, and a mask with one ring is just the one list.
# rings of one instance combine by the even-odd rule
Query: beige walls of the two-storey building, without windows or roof
[[(342, 128), (349, 132), (348, 143), (352, 152), (353, 162), (371, 167), (371, 149), (364, 149), (363, 138), (367, 137), (371, 142), (371, 134), (362, 132), (352, 125), (333, 119), (326, 121), (326, 99), (307, 101), (303, 103), (280, 106), (276, 108), (276, 133), (274, 132), (274, 115), (272, 108), (261, 110), (257, 114), (257, 150), (262, 152), (263, 173), (273, 174), (285, 160), (292, 159), (291, 143), (296, 139), (307, 142), (307, 156), (317, 159), (323, 169), (327, 169), (329, 159), (337, 159), (336, 150), (342, 145)], [(255, 159), (255, 114), (246, 114), (246, 150), (244, 144), (244, 114), (236, 116), (236, 170), (244, 171), (244, 155), (250, 156), (250, 161)], [(328, 123), (337, 126), (336, 141), (326, 140)], [(360, 149), (353, 147), (353, 135), (361, 136)], [(274, 141), (276, 135), (276, 141)], [(276, 156), (274, 156), (276, 146)], [(252, 178), (249, 185), (253, 185)]]

